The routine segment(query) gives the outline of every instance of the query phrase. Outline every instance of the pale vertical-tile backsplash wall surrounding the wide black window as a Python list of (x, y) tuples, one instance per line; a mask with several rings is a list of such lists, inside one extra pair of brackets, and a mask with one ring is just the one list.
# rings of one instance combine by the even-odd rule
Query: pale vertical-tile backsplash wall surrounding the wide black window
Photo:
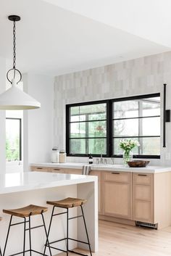
[[(166, 125), (167, 147), (162, 147), (163, 83), (167, 83), (167, 109), (171, 109), (171, 51), (57, 76), (54, 80), (54, 145), (65, 149), (66, 104), (160, 92), (161, 159), (151, 163), (171, 165), (171, 123)], [(86, 162), (85, 157), (67, 159)]]

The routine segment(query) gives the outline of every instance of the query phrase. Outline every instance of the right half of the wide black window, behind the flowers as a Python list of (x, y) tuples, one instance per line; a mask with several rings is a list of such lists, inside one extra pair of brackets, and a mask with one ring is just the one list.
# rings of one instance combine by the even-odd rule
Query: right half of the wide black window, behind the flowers
[(159, 156), (160, 154), (160, 97), (146, 96), (140, 99), (114, 100), (113, 154), (120, 154), (120, 139), (136, 139), (140, 146), (133, 154)]

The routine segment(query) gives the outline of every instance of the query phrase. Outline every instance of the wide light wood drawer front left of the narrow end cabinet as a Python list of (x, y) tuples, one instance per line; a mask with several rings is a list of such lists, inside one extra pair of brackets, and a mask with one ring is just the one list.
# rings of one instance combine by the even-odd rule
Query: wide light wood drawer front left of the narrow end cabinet
[(130, 179), (131, 173), (122, 173), (117, 171), (104, 173), (104, 181), (117, 181), (128, 183)]

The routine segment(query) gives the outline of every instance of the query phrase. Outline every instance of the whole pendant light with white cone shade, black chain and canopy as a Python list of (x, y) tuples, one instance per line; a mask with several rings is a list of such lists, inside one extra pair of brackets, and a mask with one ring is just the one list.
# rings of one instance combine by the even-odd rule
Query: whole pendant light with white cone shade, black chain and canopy
[[(41, 107), (41, 103), (37, 102), (30, 95), (25, 94), (24, 91), (17, 88), (17, 83), (22, 80), (20, 70), (16, 68), (16, 26), (15, 22), (20, 20), (20, 16), (10, 15), (9, 20), (13, 22), (13, 67), (7, 72), (7, 80), (9, 80), (9, 73), (13, 72), (12, 80), (9, 83), (12, 86), (4, 93), (0, 94), (0, 110), (33, 110)], [(20, 78), (16, 80), (16, 73), (19, 73)]]

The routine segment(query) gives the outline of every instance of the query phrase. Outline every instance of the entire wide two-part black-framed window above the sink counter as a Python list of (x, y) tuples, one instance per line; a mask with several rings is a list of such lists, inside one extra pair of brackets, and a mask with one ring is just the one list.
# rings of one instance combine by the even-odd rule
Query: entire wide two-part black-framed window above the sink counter
[(122, 157), (121, 139), (141, 144), (133, 157), (159, 158), (160, 94), (66, 106), (67, 155)]

